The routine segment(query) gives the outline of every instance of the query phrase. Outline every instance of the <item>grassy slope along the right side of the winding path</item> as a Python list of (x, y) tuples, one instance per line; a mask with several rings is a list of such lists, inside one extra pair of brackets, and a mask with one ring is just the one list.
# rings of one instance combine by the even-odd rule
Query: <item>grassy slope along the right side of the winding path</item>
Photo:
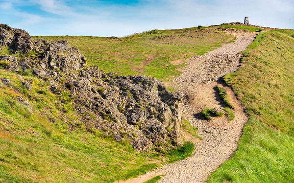
[(261, 33), (225, 76), (249, 114), (237, 152), (210, 183), (294, 182), (294, 30)]

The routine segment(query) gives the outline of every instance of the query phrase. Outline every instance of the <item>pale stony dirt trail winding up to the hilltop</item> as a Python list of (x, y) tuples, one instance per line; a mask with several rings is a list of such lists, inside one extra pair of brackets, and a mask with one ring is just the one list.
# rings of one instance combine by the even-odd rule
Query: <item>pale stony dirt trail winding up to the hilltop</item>
[(202, 142), (196, 144), (194, 155), (173, 164), (166, 164), (156, 171), (128, 180), (127, 183), (143, 183), (157, 175), (165, 175), (160, 183), (201, 183), (234, 153), (243, 126), (247, 122), (244, 109), (234, 92), (224, 87), (235, 107), (233, 121), (229, 122), (225, 116), (214, 117), (210, 121), (201, 119), (201, 112), (205, 108), (223, 107), (214, 88), (222, 84), (223, 75), (238, 69), (242, 57), (239, 53), (245, 50), (256, 36), (255, 33), (240, 31), (228, 33), (237, 37), (234, 43), (190, 58), (187, 67), (182, 70), (182, 75), (172, 83), (176, 91), (187, 96), (182, 105), (183, 118), (196, 126), (199, 136), (203, 138)]

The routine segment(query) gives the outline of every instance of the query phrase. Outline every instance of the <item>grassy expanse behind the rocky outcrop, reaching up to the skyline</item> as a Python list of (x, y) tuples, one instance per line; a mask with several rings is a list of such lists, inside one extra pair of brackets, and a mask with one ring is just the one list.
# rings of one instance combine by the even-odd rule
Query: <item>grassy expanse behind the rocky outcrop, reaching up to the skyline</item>
[(88, 36), (37, 36), (51, 41), (69, 40), (86, 56), (89, 66), (120, 75), (143, 74), (172, 81), (185, 66), (185, 59), (202, 55), (232, 37), (213, 29), (197, 27), (152, 30), (123, 38)]

